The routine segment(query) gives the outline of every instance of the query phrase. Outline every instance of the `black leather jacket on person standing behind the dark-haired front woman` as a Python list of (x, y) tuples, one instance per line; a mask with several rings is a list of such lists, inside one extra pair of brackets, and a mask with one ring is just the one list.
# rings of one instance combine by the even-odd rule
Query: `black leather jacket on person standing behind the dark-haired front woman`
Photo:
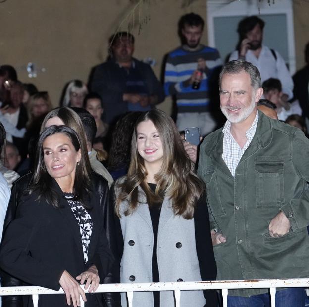
[[(93, 182), (96, 187), (97, 192), (99, 193), (101, 212), (103, 215), (103, 227), (106, 231), (106, 236), (109, 243), (109, 248), (113, 252), (116, 251), (116, 238), (115, 238), (115, 226), (114, 226), (114, 212), (113, 208), (109, 205), (109, 191), (108, 183), (101, 175), (93, 172)], [(21, 196), (26, 188), (29, 186), (29, 182), (32, 174), (29, 173), (20, 177), (14, 182), (11, 197), (8, 203), (6, 216), (4, 219), (3, 234), (12, 220), (16, 216), (16, 208), (20, 203)], [(119, 283), (119, 262), (115, 262), (110, 272), (104, 280), (101, 280), (100, 283)], [(27, 284), (23, 283), (21, 280), (5, 273), (1, 272), (1, 285), (4, 287), (12, 286), (25, 286)], [(29, 298), (26, 296), (3, 296), (2, 297), (2, 307), (23, 307), (28, 305)], [(119, 293), (103, 293), (103, 305), (106, 307), (121, 307), (120, 305), (120, 294)]]

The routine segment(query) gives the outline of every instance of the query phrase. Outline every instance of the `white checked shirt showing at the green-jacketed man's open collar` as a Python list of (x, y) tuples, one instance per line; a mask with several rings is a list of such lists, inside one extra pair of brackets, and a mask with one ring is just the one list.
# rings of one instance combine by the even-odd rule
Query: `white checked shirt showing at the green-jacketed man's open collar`
[(233, 177), (235, 176), (236, 167), (243, 156), (246, 149), (249, 147), (255, 133), (257, 130), (257, 122), (258, 122), (258, 112), (256, 117), (251, 124), (251, 127), (246, 131), (247, 142), (243, 148), (241, 148), (238, 143), (235, 141), (232, 133), (231, 133), (231, 122), (226, 121), (223, 127), (223, 152), (222, 159), (225, 162), (226, 166), (230, 170)]

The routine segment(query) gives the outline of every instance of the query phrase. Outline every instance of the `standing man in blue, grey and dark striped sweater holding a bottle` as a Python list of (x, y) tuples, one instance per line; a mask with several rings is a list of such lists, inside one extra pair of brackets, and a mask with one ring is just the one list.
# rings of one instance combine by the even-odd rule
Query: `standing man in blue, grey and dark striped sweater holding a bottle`
[(206, 135), (216, 127), (209, 112), (209, 81), (222, 61), (216, 49), (200, 44), (203, 28), (201, 16), (190, 13), (181, 17), (183, 44), (168, 55), (164, 89), (166, 95), (176, 96), (178, 129), (199, 127)]

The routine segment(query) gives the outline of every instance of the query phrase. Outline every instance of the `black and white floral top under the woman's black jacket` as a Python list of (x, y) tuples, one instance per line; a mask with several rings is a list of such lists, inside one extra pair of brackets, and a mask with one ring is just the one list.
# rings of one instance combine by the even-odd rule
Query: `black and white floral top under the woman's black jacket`
[(87, 210), (81, 205), (79, 201), (73, 200), (74, 194), (65, 193), (69, 206), (79, 224), (82, 246), (84, 252), (85, 263), (88, 261), (88, 246), (90, 243), (92, 233), (92, 219)]

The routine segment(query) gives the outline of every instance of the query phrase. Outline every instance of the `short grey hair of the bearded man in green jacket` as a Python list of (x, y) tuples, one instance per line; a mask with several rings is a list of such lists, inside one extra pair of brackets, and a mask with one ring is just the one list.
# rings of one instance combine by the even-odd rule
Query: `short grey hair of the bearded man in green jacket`
[(251, 80), (250, 83), (251, 83), (251, 86), (255, 90), (261, 87), (261, 77), (260, 77), (260, 73), (256, 66), (244, 60), (233, 60), (233, 61), (227, 62), (222, 67), (222, 70), (219, 76), (220, 88), (221, 88), (222, 76), (224, 74), (235, 75), (235, 74), (241, 73), (242, 71), (250, 75), (250, 80)]

